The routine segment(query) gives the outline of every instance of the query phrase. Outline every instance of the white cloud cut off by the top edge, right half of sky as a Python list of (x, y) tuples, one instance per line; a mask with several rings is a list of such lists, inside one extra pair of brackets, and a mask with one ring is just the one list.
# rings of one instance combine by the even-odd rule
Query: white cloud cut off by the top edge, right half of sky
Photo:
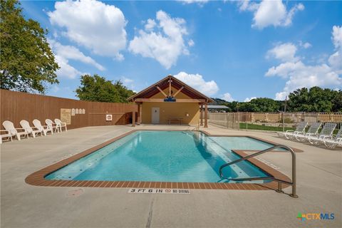
[(238, 2), (239, 11), (254, 12), (253, 24), (254, 28), (265, 28), (267, 26), (289, 26), (297, 11), (304, 10), (303, 4), (296, 4), (289, 11), (281, 0), (268, 1), (264, 0), (257, 4), (250, 1)]

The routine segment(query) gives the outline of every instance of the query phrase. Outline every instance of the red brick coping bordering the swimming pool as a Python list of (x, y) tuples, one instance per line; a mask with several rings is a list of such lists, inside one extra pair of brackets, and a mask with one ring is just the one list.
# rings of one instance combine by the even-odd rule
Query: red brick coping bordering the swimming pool
[[(154, 130), (154, 129), (144, 129), (144, 130)], [(84, 150), (83, 152), (79, 152), (76, 155), (63, 159), (61, 161), (55, 162), (53, 165), (48, 165), (41, 170), (33, 172), (31, 175), (26, 177), (25, 182), (28, 185), (34, 186), (44, 186), (44, 187), (114, 187), (114, 188), (177, 188), (177, 189), (198, 189), (198, 190), (276, 190), (278, 187), (278, 182), (271, 181), (267, 183), (214, 183), (214, 182), (144, 182), (144, 181), (92, 181), (92, 180), (46, 180), (44, 177), (50, 174), (51, 172), (55, 172), (56, 170), (61, 169), (62, 167), (74, 162), (81, 157), (85, 157), (86, 155), (90, 155), (90, 153), (99, 150), (106, 145), (109, 145), (116, 140), (120, 140), (127, 135), (135, 133), (138, 130), (130, 130), (128, 133), (124, 133), (119, 135), (111, 140), (101, 143), (100, 145), (96, 145), (95, 147), (91, 147), (88, 150)], [(162, 130), (162, 131), (170, 131), (170, 130)], [(184, 131), (184, 130), (172, 130), (172, 131)], [(249, 135), (212, 135), (207, 133), (204, 130), (199, 130), (199, 132), (204, 133), (208, 136), (225, 136), (225, 137), (249, 137), (257, 140), (261, 140), (263, 142), (271, 143), (272, 145), (276, 145), (275, 142), (271, 142), (269, 140), (264, 140), (261, 138), (256, 138)], [(303, 152), (302, 150), (298, 150), (296, 148), (292, 148), (295, 152)], [(257, 152), (258, 150), (246, 150), (249, 152)], [(247, 153), (244, 150), (232, 150), (240, 157), (247, 156)], [(279, 151), (274, 151), (279, 152)], [(253, 165), (257, 166), (262, 171), (266, 172), (268, 175), (276, 177), (277, 179), (285, 180), (287, 182), (291, 182), (290, 178), (284, 175), (282, 172), (275, 170), (274, 168), (266, 165), (264, 162), (257, 160), (255, 157), (249, 158), (249, 162)], [(281, 188), (284, 189), (289, 187), (289, 185), (282, 184)]]

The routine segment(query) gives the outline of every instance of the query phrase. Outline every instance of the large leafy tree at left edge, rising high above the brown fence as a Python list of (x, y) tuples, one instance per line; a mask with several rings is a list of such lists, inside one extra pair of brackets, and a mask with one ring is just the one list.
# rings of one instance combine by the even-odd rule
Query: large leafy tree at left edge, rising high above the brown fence
[(48, 31), (24, 19), (19, 1), (0, 3), (0, 88), (44, 93), (47, 83), (58, 83)]

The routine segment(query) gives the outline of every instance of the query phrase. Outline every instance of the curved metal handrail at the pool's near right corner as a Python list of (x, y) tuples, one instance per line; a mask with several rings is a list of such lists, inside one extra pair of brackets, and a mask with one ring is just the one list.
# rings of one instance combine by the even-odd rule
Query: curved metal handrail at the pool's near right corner
[[(262, 155), (265, 152), (269, 152), (271, 150), (277, 149), (277, 148), (282, 148), (285, 149), (289, 152), (291, 152), (292, 155), (292, 181), (288, 182), (286, 180), (280, 180), (277, 179), (275, 177), (246, 177), (246, 178), (229, 178), (229, 177), (224, 177), (224, 175), (222, 174), (222, 170), (224, 169), (224, 167), (227, 167), (229, 165), (233, 165), (237, 162), (242, 162), (244, 160), (247, 160), (251, 157), (256, 157), (258, 155)], [(276, 190), (276, 192), (279, 193), (284, 193), (283, 190), (281, 190), (281, 183), (287, 184), (287, 185), (291, 185), (292, 186), (292, 193), (289, 194), (290, 197), (294, 197), (294, 198), (298, 198), (298, 195), (296, 195), (296, 154), (294, 153), (294, 150), (292, 150), (290, 147), (286, 146), (286, 145), (275, 145), (274, 147), (269, 147), (266, 150), (261, 150), (259, 152), (256, 152), (252, 155), (247, 155), (246, 157), (242, 157), (238, 160), (234, 160), (232, 162), (229, 162), (227, 164), (222, 165), (221, 167), (219, 167), (219, 175), (220, 177), (227, 179), (227, 180), (234, 180), (234, 181), (245, 181), (245, 180), (273, 180), (278, 182), (278, 189)]]

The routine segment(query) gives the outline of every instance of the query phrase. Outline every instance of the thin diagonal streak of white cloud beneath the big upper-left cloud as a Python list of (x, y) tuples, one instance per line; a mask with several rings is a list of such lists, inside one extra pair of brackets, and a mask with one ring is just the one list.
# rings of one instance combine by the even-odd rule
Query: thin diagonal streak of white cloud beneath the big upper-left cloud
[(58, 56), (90, 64), (92, 66), (95, 66), (95, 68), (98, 68), (98, 70), (100, 71), (105, 70), (105, 68), (100, 65), (100, 63), (97, 63), (90, 56), (84, 55), (80, 50), (78, 50), (78, 48), (74, 46), (62, 45), (61, 43), (51, 39), (48, 40), (48, 43), (50, 43), (53, 52)]

